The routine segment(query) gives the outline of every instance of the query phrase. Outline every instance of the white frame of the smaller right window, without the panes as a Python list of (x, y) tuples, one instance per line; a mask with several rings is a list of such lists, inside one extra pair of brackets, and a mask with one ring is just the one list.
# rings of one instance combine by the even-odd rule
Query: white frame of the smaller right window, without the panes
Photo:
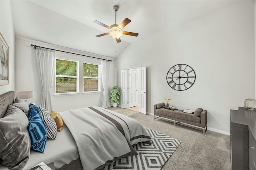
[[(84, 64), (98, 65), (98, 77), (84, 76)], [(98, 79), (98, 91), (85, 92), (84, 91), (84, 78), (96, 78), (96, 79)], [(83, 61), (83, 94), (99, 93), (99, 92), (101, 92), (101, 65), (99, 63), (92, 63), (92, 62), (88, 62), (88, 61)]]

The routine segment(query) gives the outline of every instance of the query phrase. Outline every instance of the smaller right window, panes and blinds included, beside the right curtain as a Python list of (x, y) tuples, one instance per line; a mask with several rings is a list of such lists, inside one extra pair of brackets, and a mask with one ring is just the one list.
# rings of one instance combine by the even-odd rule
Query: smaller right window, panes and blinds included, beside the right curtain
[(84, 92), (100, 91), (100, 65), (84, 63)]

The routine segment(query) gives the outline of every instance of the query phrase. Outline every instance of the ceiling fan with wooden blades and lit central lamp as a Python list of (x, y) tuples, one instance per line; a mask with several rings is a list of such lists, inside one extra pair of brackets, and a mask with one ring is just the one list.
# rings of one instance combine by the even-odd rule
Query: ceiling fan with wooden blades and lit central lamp
[[(118, 6), (113, 6), (113, 9), (115, 12), (118, 11), (119, 7)], [(105, 25), (104, 23), (101, 23), (100, 21), (94, 21), (95, 23), (106, 27), (107, 29), (110, 30), (110, 32), (108, 33), (103, 33), (100, 35), (96, 35), (96, 37), (101, 37), (103, 35), (108, 35), (110, 34), (114, 39), (116, 39), (116, 42), (120, 43), (121, 42), (121, 35), (132, 35), (137, 37), (139, 34), (138, 33), (132, 33), (132, 32), (127, 32), (127, 31), (122, 31), (122, 29), (128, 24), (130, 23), (131, 20), (129, 20), (128, 18), (125, 18), (124, 21), (122, 21), (119, 25), (116, 24), (116, 20), (115, 20), (115, 24), (111, 25), (110, 27), (108, 25)]]

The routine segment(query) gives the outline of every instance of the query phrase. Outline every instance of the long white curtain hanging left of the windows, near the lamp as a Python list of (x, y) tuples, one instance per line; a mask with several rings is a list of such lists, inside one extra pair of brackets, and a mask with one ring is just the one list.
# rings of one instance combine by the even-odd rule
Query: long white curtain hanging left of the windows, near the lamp
[(37, 47), (36, 60), (42, 87), (40, 106), (51, 112), (51, 89), (55, 78), (55, 51)]

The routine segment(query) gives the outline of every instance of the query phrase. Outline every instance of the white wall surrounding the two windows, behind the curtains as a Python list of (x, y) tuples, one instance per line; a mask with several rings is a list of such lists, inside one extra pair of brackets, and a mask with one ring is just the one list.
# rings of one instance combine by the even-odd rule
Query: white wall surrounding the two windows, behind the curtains
[[(39, 73), (36, 63), (36, 49), (31, 47), (30, 45), (37, 45), (52, 49), (58, 49), (62, 51), (69, 51), (72, 53), (79, 53), (82, 55), (88, 55), (92, 57), (98, 57), (102, 59), (113, 60), (108, 57), (94, 55), (82, 51), (76, 51), (72, 49), (66, 49), (64, 47), (59, 47), (56, 45), (50, 45), (47, 43), (42, 43), (30, 39), (24, 39), (22, 37), (16, 37), (16, 90), (23, 91), (23, 90), (33, 90), (34, 91), (34, 98), (28, 99), (28, 102), (35, 102), (36, 105), (40, 104), (41, 101), (41, 85), (39, 80)], [(93, 62), (95, 64), (100, 64), (100, 60), (92, 59), (88, 57), (72, 55), (68, 53), (62, 53), (56, 51), (56, 57), (66, 57), (66, 58), (75, 58), (80, 60), (80, 72), (81, 69), (83, 70), (82, 64), (83, 61)], [(109, 80), (109, 94), (111, 87), (114, 86), (116, 77), (116, 68), (115, 68), (115, 61), (111, 62), (110, 64), (110, 80)], [(79, 74), (80, 78), (83, 78), (82, 74)], [(80, 94), (78, 95), (68, 95), (68, 96), (54, 96), (54, 86), (51, 91), (52, 96), (52, 109), (55, 111), (65, 111), (68, 109), (76, 109), (82, 107), (89, 107), (89, 106), (102, 106), (102, 92), (100, 93), (91, 93), (91, 94), (83, 94), (83, 83), (79, 84)], [(102, 87), (102, 86), (101, 86)]]

